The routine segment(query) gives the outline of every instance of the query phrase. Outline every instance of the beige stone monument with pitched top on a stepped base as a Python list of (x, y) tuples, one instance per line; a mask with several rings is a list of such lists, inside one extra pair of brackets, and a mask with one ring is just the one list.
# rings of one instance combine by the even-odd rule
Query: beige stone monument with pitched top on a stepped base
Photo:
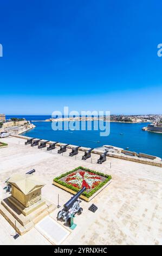
[(25, 234), (34, 225), (55, 208), (43, 199), (41, 189), (45, 185), (35, 174), (15, 174), (8, 180), (11, 196), (2, 200), (1, 214), (20, 235)]

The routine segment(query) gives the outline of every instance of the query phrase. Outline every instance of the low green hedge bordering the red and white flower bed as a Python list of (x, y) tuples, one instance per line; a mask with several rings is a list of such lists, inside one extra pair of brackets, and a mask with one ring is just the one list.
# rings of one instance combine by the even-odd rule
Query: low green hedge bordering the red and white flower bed
[(56, 183), (58, 183), (58, 184), (64, 186), (64, 187), (69, 188), (70, 190), (73, 190), (73, 191), (75, 191), (75, 192), (78, 192), (78, 191), (80, 191), (79, 188), (73, 187), (72, 185), (67, 184), (66, 182), (63, 182), (63, 181), (61, 181), (60, 179), (63, 178), (64, 176), (69, 175), (70, 173), (76, 172), (76, 170), (79, 170), (79, 169), (85, 170), (86, 172), (95, 173), (95, 174), (98, 174), (98, 175), (100, 175), (100, 176), (106, 178), (105, 181), (101, 182), (98, 186), (96, 186), (95, 188), (93, 188), (93, 190), (91, 190), (90, 192), (88, 192), (88, 193), (87, 193), (87, 192), (83, 192), (83, 193), (82, 193), (82, 195), (85, 196), (85, 197), (87, 197), (87, 198), (91, 197), (96, 191), (98, 191), (98, 190), (99, 190), (101, 187), (103, 187), (109, 180), (112, 179), (112, 176), (111, 176), (111, 175), (107, 175), (107, 174), (104, 174), (104, 173), (96, 172), (95, 170), (90, 170), (90, 169), (88, 169), (88, 168), (84, 168), (84, 167), (82, 167), (82, 166), (79, 166), (79, 167), (77, 167), (77, 168), (75, 168), (75, 169), (73, 169), (73, 170), (70, 170), (69, 172), (66, 172), (66, 173), (61, 174), (60, 176), (56, 177), (56, 178), (54, 179), (54, 181), (55, 181)]

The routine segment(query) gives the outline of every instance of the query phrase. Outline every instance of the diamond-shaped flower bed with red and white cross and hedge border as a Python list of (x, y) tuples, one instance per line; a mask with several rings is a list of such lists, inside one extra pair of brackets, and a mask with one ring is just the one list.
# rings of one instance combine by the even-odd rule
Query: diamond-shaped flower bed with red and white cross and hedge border
[(79, 166), (70, 172), (56, 177), (54, 179), (54, 185), (60, 185), (61, 188), (69, 192), (78, 192), (82, 187), (86, 187), (86, 191), (82, 193), (81, 197), (90, 198), (111, 179), (112, 177), (110, 175)]

